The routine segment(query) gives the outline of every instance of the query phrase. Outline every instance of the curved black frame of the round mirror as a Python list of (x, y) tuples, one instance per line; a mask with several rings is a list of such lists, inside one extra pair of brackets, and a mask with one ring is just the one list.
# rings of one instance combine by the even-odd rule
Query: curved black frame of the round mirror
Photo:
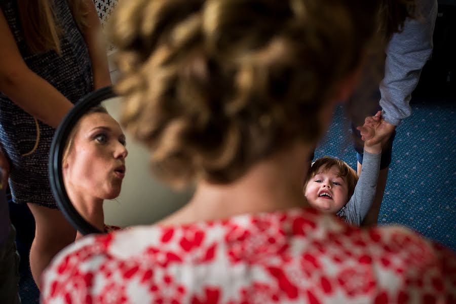
[(116, 97), (112, 87), (98, 89), (82, 97), (71, 110), (66, 114), (63, 121), (58, 126), (54, 138), (52, 139), (51, 150), (49, 152), (49, 181), (51, 190), (56, 200), (57, 206), (62, 211), (70, 224), (83, 235), (91, 233), (104, 233), (96, 229), (73, 207), (65, 190), (62, 174), (62, 157), (65, 150), (66, 140), (73, 126), (81, 117), (93, 106), (99, 105), (102, 101)]

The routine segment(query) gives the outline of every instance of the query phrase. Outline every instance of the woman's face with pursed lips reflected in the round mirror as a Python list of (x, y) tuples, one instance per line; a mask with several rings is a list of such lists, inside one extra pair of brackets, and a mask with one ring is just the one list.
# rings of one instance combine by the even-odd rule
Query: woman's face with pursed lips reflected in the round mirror
[(84, 116), (69, 149), (63, 163), (67, 191), (103, 200), (119, 196), (128, 151), (116, 120), (102, 112)]

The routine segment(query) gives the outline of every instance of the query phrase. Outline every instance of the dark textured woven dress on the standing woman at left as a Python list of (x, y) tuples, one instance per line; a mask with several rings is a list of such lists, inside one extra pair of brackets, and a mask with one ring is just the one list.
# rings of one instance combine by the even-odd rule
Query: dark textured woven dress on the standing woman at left
[[(93, 91), (92, 66), (84, 38), (66, 1), (55, 1), (55, 13), (63, 30), (59, 56), (54, 50), (33, 54), (27, 47), (15, 0), (0, 6), (28, 68), (48, 81), (71, 102)], [(27, 90), (24, 84), (24, 90)], [(0, 145), (10, 160), (10, 187), (16, 203), (35, 203), (57, 208), (52, 197), (48, 158), (55, 129), (39, 122), (39, 144), (34, 118), (0, 92)]]

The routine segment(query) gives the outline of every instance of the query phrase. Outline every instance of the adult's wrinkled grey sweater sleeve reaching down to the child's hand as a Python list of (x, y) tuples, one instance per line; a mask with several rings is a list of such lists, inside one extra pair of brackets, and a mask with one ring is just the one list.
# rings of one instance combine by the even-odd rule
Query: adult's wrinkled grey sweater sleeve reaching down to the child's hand
[(405, 20), (402, 32), (392, 36), (386, 49), (380, 106), (384, 119), (394, 126), (410, 116), (411, 93), (433, 48), (437, 0), (417, 0), (416, 4), (420, 17)]

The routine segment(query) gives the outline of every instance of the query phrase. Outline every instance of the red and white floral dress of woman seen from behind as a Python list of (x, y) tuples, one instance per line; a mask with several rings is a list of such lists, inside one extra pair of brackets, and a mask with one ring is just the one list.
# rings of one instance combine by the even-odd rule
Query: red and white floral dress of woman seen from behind
[(298, 208), (85, 237), (45, 272), (42, 302), (456, 303), (455, 257)]

